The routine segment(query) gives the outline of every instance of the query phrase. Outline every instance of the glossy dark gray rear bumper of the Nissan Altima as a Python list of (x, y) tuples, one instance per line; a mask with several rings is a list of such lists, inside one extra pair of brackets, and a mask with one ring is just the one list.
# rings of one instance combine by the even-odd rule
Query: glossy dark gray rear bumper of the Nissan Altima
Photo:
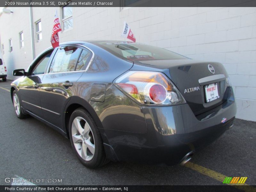
[(146, 133), (105, 130), (109, 142), (108, 158), (147, 164), (178, 164), (186, 154), (219, 138), (233, 124), (236, 115), (232, 88), (226, 102), (205, 117), (200, 115), (200, 119), (188, 104), (142, 107), (142, 110), (148, 127)]

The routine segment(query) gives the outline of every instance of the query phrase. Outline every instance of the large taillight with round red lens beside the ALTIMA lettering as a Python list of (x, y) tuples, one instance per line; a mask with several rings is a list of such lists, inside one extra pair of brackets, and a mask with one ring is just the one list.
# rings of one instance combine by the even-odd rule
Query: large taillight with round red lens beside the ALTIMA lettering
[(178, 89), (160, 72), (129, 71), (114, 83), (132, 99), (145, 105), (185, 103)]

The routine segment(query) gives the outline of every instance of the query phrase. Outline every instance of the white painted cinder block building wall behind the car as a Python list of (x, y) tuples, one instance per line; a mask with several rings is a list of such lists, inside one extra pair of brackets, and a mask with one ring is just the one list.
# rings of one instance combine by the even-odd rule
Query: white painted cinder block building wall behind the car
[[(33, 20), (41, 19), (43, 32), (43, 41), (35, 43), (36, 55), (51, 46), (55, 9), (33, 7)], [(57, 10), (60, 15), (61, 9)], [(74, 7), (73, 20), (73, 29), (59, 34), (61, 42), (125, 40), (120, 33), (126, 21), (138, 42), (166, 48), (192, 59), (223, 63), (236, 96), (236, 117), (256, 121), (255, 7)], [(27, 68), (32, 60), (28, 8), (17, 8), (13, 15), (3, 14), (0, 26), (1, 43), (5, 44), (4, 59), (9, 78), (13, 78), (13, 68)], [(3, 26), (6, 27), (3, 29)], [(16, 42), (21, 30), (25, 36), (22, 49), (26, 54), (19, 50), (19, 42)], [(9, 53), (7, 43), (11, 37), (14, 51)]]

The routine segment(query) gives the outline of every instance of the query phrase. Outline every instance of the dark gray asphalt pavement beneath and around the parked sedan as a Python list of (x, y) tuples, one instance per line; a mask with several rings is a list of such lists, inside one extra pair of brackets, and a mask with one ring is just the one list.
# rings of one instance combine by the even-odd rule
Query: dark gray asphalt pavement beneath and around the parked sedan
[(33, 117), (16, 117), (10, 83), (0, 80), (0, 185), (11, 185), (5, 178), (12, 177), (62, 181), (44, 180), (36, 185), (225, 185), (213, 172), (248, 177), (245, 183), (256, 185), (256, 122), (235, 119), (234, 126), (218, 140), (194, 154), (191, 162), (203, 167), (204, 173), (181, 165), (126, 162), (88, 169), (60, 133)]

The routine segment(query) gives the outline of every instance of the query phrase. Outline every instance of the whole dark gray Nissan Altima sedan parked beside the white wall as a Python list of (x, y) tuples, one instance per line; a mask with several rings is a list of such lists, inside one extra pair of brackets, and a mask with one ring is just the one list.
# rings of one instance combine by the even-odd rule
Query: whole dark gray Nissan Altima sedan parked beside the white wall
[(140, 43), (73, 41), (16, 69), (18, 118), (69, 138), (78, 159), (184, 164), (233, 125), (234, 93), (218, 62)]

